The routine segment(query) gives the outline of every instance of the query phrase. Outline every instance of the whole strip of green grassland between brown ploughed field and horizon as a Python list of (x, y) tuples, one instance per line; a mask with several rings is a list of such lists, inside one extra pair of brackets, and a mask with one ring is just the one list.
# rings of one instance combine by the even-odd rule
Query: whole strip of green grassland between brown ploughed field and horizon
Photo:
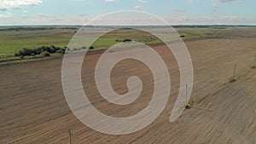
[[(157, 31), (165, 32), (165, 28), (158, 27)], [(179, 35), (183, 35), (183, 40), (203, 39), (203, 38), (228, 38), (228, 37), (250, 37), (247, 33), (255, 33), (253, 26), (236, 27), (236, 26), (178, 26), (176, 27)], [(13, 60), (33, 60), (41, 59), (42, 56), (15, 56), (21, 49), (37, 49), (42, 46), (51, 46), (65, 48), (73, 35), (79, 31), (79, 27), (23, 27), (23, 28), (1, 28), (0, 29), (0, 63)], [(239, 33), (239, 36), (237, 35)], [(177, 36), (172, 37), (174, 40)], [(167, 37), (167, 35), (166, 35)], [(94, 49), (108, 49), (113, 44), (120, 43), (124, 39), (131, 39), (140, 43), (155, 44), (161, 41), (148, 32), (141, 32), (134, 29), (119, 29), (118, 31), (109, 32), (98, 38), (92, 44)], [(78, 48), (81, 49), (81, 48)], [(54, 56), (54, 55), (53, 55)]]

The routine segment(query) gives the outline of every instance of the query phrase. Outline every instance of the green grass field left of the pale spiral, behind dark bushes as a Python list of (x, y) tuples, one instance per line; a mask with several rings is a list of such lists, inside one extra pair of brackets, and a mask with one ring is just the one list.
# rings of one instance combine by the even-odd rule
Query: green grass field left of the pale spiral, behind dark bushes
[(20, 49), (43, 45), (67, 46), (75, 30), (0, 31), (0, 53), (14, 54)]

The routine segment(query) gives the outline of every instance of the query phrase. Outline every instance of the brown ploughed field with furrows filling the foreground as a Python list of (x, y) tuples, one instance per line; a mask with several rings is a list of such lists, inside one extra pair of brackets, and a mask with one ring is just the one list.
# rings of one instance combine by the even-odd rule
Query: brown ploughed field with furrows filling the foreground
[[(69, 128), (73, 132), (73, 143), (255, 143), (256, 69), (252, 66), (256, 29), (177, 28), (177, 32), (188, 39), (185, 43), (195, 74), (189, 100), (192, 108), (185, 110), (177, 121), (169, 122), (179, 88), (177, 62), (164, 46), (154, 45), (171, 73), (172, 93), (160, 117), (145, 129), (129, 135), (104, 135), (80, 123), (67, 106), (61, 87), (62, 59), (56, 58), (0, 66), (0, 143), (68, 143)], [(63, 37), (67, 39), (63, 38), (60, 43), (65, 46), (70, 36)], [(1, 42), (3, 46), (4, 43)], [(3, 51), (15, 50), (4, 48)], [(117, 49), (116, 53), (125, 53), (125, 50)], [(137, 60), (119, 63), (111, 78), (113, 89), (124, 94), (127, 78), (135, 73), (143, 81), (140, 98), (125, 107), (102, 101), (93, 75), (100, 56), (86, 56), (82, 68), (84, 89), (94, 106), (119, 117), (133, 115), (146, 107), (154, 81), (147, 66)], [(235, 64), (237, 80), (230, 83)]]

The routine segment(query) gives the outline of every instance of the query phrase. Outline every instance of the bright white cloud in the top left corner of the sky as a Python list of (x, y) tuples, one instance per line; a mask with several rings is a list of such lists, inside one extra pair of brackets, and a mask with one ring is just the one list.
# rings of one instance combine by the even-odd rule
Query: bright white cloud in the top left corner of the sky
[(20, 8), (20, 6), (37, 6), (41, 0), (0, 0), (0, 10)]

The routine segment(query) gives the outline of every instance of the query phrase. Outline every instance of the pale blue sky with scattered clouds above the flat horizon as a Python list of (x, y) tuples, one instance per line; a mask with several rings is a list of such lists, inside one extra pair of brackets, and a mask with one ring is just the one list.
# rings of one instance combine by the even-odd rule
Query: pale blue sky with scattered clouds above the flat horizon
[(0, 0), (0, 26), (84, 25), (120, 10), (171, 25), (256, 25), (256, 0)]

